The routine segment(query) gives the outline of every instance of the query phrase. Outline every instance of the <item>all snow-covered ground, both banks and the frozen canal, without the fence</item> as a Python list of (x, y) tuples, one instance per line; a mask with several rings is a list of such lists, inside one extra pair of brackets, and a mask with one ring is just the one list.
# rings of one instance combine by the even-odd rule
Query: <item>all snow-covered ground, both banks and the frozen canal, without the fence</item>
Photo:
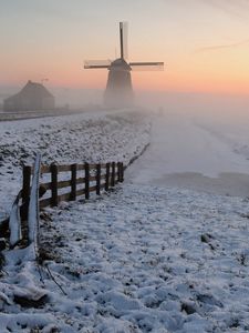
[[(245, 181), (249, 162), (241, 148), (249, 135), (240, 129), (241, 137), (235, 131), (231, 138), (234, 130), (219, 124), (217, 131), (218, 123), (203, 120), (154, 115), (152, 145), (126, 170), (122, 185), (42, 213), (42, 265), (20, 261), (25, 250), (6, 253), (0, 332), (249, 331), (246, 188), (240, 184), (232, 196), (209, 185), (199, 191), (195, 176), (191, 190), (174, 182), (176, 173), (210, 182), (222, 172)], [(148, 142), (151, 125), (144, 113), (115, 112), (0, 127), (0, 202), (7, 210), (19, 188), (20, 159), (31, 161), (41, 150), (45, 162), (127, 163)], [(220, 186), (218, 193), (227, 190), (225, 180)], [(40, 306), (21, 306), (23, 293), (46, 297)]]

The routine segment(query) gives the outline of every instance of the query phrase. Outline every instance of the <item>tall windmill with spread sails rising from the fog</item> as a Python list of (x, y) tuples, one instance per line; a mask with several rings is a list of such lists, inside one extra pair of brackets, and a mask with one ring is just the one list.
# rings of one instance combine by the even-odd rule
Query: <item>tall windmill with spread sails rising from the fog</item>
[(163, 70), (164, 62), (128, 62), (127, 61), (127, 26), (120, 22), (121, 57), (114, 61), (85, 61), (84, 69), (107, 69), (108, 79), (104, 93), (104, 102), (108, 107), (129, 107), (134, 102), (131, 71)]

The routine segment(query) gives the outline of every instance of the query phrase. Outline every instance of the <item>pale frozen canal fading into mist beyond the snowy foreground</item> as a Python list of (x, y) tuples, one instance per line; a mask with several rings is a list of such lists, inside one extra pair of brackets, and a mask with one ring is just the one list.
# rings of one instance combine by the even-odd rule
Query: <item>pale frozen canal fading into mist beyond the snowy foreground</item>
[(249, 195), (249, 119), (247, 114), (239, 117), (158, 114), (151, 147), (129, 168), (126, 179), (139, 184)]

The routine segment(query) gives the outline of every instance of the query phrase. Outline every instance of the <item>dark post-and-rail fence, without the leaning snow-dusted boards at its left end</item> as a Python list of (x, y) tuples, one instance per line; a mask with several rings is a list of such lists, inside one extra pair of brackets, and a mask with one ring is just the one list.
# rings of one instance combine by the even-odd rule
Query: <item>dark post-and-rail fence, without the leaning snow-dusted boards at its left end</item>
[[(55, 206), (61, 201), (74, 201), (77, 196), (90, 198), (91, 192), (101, 194), (101, 190), (108, 191), (116, 183), (124, 180), (124, 165), (122, 162), (98, 164), (70, 164), (70, 165), (41, 165), (41, 175), (49, 181), (40, 182), (41, 191), (46, 191), (45, 199), (40, 199), (40, 208)], [(30, 198), (30, 184), (33, 168), (23, 167), (22, 201)], [(60, 180), (61, 178), (61, 180)], [(49, 192), (49, 195), (48, 195)]]

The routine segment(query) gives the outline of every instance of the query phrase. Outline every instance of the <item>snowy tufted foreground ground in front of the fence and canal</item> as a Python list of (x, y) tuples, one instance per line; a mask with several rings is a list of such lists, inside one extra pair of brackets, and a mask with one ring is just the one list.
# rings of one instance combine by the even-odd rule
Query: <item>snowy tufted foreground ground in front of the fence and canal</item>
[[(133, 184), (50, 210), (40, 272), (8, 261), (1, 332), (246, 332), (248, 216), (248, 200)], [(13, 303), (25, 287), (48, 302)]]

